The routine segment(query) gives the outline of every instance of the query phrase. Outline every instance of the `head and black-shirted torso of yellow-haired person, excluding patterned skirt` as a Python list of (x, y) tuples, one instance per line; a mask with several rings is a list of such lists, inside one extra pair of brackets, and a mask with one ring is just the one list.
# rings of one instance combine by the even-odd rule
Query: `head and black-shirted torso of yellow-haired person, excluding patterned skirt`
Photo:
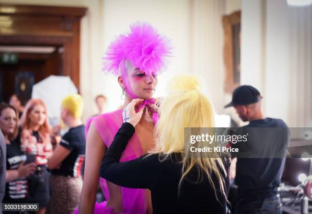
[[(56, 146), (48, 160), (48, 168), (53, 175), (81, 177), (85, 160), (85, 126), (81, 121), (83, 99), (79, 94), (69, 95), (62, 101), (61, 118), (69, 130)], [(59, 128), (59, 127), (58, 127)], [(54, 127), (54, 130), (59, 130)]]

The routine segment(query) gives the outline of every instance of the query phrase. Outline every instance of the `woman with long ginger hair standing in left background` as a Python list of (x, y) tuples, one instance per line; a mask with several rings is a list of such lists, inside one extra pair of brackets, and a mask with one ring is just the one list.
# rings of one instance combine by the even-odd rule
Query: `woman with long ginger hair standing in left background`
[(52, 154), (47, 109), (41, 99), (30, 99), (20, 119), (21, 149), (36, 164), (29, 177), (29, 203), (39, 203), (37, 213), (45, 213), (49, 201), (47, 158)]

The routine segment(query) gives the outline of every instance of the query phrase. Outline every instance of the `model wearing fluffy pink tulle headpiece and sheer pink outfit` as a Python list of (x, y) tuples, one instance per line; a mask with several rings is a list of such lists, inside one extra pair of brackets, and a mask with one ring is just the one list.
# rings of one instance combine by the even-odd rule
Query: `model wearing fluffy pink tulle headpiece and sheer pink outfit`
[[(157, 75), (166, 69), (170, 57), (169, 40), (150, 24), (137, 22), (131, 31), (117, 37), (103, 57), (103, 71), (118, 76), (121, 98), (125, 106), (135, 98), (144, 101), (144, 108), (136, 126), (136, 134), (122, 153), (121, 162), (135, 159), (154, 147), (154, 125), (158, 119), (155, 99)], [(99, 177), (102, 157), (123, 123), (123, 109), (90, 118), (86, 124), (86, 165), (79, 213), (152, 213), (150, 192), (129, 189)], [(97, 184), (101, 186), (106, 201), (96, 203)]]

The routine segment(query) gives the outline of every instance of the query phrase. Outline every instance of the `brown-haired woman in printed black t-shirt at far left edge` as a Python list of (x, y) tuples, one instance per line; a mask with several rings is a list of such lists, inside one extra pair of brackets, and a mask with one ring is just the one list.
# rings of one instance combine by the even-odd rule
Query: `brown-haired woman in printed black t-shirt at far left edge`
[(25, 164), (27, 157), (20, 149), (17, 124), (18, 114), (14, 107), (0, 104), (0, 128), (7, 146), (6, 192), (2, 203), (28, 202), (27, 177), (33, 174), (36, 168), (34, 163)]

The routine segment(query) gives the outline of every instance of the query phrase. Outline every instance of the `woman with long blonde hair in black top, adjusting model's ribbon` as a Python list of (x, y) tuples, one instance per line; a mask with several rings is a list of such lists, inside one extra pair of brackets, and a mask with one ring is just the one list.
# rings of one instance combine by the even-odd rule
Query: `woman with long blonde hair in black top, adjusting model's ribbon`
[(193, 75), (172, 79), (155, 126), (154, 149), (119, 163), (142, 116), (140, 102), (134, 99), (125, 108), (124, 123), (103, 158), (100, 176), (127, 188), (149, 189), (153, 213), (225, 213), (228, 156), (189, 155), (184, 144), (185, 127), (214, 127), (214, 108), (202, 93), (200, 79)]

